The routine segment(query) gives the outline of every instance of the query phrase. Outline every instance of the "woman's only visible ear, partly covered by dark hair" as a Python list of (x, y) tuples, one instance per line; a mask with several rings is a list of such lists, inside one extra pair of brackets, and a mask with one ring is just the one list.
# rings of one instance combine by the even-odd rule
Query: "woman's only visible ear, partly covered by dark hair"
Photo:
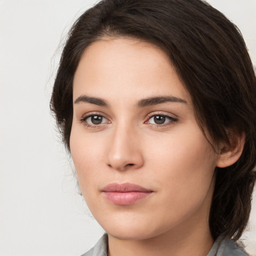
[[(228, 134), (228, 133), (227, 133)], [(216, 166), (219, 168), (224, 168), (235, 163), (241, 156), (245, 134), (244, 132), (229, 134), (230, 146), (226, 144), (221, 144), (219, 146), (219, 154)]]

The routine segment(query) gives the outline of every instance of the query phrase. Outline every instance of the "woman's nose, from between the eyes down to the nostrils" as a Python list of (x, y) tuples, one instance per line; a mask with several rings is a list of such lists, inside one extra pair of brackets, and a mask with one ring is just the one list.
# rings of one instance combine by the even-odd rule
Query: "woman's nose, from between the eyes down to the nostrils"
[(140, 168), (144, 160), (139, 141), (138, 132), (131, 127), (115, 127), (107, 151), (107, 165), (120, 171)]

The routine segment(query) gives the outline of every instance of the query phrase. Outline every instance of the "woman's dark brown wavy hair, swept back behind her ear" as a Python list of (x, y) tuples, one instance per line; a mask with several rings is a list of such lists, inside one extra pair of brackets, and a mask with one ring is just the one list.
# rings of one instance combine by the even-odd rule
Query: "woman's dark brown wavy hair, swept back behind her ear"
[(50, 102), (68, 150), (74, 73), (84, 49), (104, 36), (138, 38), (161, 48), (192, 97), (199, 126), (214, 141), (230, 146), (231, 133), (245, 133), (238, 161), (215, 170), (209, 216), (213, 238), (238, 239), (256, 176), (256, 78), (239, 30), (201, 0), (103, 0), (86, 10), (69, 31)]

